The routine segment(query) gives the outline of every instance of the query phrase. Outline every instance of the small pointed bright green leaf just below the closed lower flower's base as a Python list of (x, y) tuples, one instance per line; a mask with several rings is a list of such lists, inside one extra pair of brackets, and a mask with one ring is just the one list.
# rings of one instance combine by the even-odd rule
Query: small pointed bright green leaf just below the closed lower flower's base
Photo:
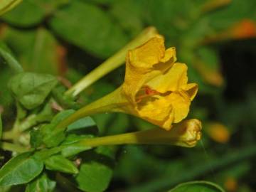
[(44, 161), (46, 169), (60, 171), (66, 174), (78, 174), (78, 168), (72, 161), (66, 159), (62, 155), (50, 156)]

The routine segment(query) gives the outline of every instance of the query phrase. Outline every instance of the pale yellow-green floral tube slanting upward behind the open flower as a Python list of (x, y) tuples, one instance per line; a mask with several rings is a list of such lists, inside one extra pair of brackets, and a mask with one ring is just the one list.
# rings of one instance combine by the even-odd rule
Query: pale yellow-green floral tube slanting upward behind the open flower
[(77, 96), (80, 92), (82, 92), (82, 90), (85, 90), (86, 87), (89, 87), (92, 85), (92, 83), (96, 82), (107, 73), (110, 73), (112, 70), (122, 65), (128, 50), (140, 46), (142, 43), (145, 43), (147, 40), (149, 40), (149, 38), (156, 35), (156, 33), (156, 28), (146, 28), (144, 31), (142, 31), (142, 33), (139, 34), (139, 36), (137, 36), (137, 38), (134, 38), (133, 41), (128, 43), (127, 46), (124, 46), (124, 48), (119, 50), (112, 57), (108, 58), (97, 68), (85, 75), (85, 77), (75, 83), (73, 87), (70, 87), (70, 89), (65, 92), (65, 94), (71, 97)]

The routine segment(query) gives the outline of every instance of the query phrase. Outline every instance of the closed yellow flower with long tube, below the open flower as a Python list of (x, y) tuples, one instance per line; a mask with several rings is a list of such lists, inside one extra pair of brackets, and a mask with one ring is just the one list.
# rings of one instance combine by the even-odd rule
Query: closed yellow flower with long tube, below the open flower
[(94, 147), (116, 144), (169, 144), (193, 147), (201, 139), (201, 129), (198, 119), (188, 119), (175, 124), (169, 131), (157, 127), (140, 132), (85, 139), (80, 141), (79, 145)]

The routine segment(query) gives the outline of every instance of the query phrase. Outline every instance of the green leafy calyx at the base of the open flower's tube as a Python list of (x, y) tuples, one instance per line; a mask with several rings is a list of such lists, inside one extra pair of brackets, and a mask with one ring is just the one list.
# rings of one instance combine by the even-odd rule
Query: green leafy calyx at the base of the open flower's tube
[(59, 112), (53, 118), (50, 124), (46, 124), (44, 127), (41, 128), (43, 134), (43, 143), (46, 144), (46, 146), (58, 146), (60, 142), (63, 142), (63, 140), (65, 139), (65, 130), (55, 129), (55, 127), (59, 122), (63, 121), (63, 119), (73, 114), (73, 112), (75, 112), (75, 110), (65, 110)]

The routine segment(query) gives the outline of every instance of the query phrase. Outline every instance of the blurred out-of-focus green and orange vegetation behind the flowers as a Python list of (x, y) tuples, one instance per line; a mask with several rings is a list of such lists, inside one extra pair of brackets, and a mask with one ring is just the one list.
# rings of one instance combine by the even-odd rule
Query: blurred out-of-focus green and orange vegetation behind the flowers
[[(120, 146), (107, 191), (164, 191), (177, 183), (208, 180), (226, 191), (256, 189), (255, 0), (24, 0), (1, 16), (0, 40), (24, 70), (78, 81), (146, 26), (155, 26), (188, 65), (199, 92), (189, 117), (203, 122), (193, 149)], [(0, 112), (15, 118), (0, 62)], [(82, 92), (83, 104), (124, 80), (124, 65)], [(101, 135), (153, 125), (126, 114), (94, 116)], [(8, 159), (1, 159), (1, 165)]]

